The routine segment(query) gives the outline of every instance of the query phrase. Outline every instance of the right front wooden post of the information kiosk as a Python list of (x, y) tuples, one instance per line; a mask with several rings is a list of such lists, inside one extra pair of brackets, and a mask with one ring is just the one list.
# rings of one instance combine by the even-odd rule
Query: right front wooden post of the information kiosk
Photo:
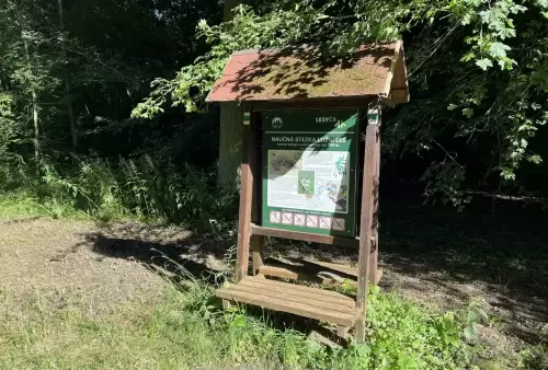
[[(378, 140), (378, 124), (369, 119), (365, 139), (364, 181), (362, 185), (362, 220), (359, 222), (359, 257), (357, 270), (356, 309), (359, 319), (356, 322), (355, 338), (357, 343), (365, 342), (365, 317), (367, 309), (367, 280), (369, 278), (372, 252), (372, 226), (374, 216), (374, 177), (377, 165), (376, 142)], [(373, 280), (375, 281), (375, 280)]]

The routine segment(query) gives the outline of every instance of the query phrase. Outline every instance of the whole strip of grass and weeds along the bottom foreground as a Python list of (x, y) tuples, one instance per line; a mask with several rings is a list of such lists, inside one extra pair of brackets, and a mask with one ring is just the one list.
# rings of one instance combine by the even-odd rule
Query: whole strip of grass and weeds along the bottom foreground
[(70, 300), (38, 297), (21, 309), (0, 298), (2, 369), (457, 369), (470, 363), (466, 315), (429, 312), (396, 293), (372, 291), (368, 344), (326, 348), (272, 313), (222, 311), (213, 288), (170, 286), (156, 302), (94, 315)]

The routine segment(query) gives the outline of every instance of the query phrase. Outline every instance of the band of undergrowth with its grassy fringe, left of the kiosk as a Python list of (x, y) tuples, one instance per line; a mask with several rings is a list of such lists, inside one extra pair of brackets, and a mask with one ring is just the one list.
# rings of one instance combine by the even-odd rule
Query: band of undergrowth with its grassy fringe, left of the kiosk
[(16, 183), (1, 183), (0, 213), (196, 224), (212, 217), (233, 217), (235, 194), (219, 189), (214, 170), (175, 167), (150, 155), (114, 163), (72, 157), (69, 164), (43, 160), (37, 169), (19, 172)]

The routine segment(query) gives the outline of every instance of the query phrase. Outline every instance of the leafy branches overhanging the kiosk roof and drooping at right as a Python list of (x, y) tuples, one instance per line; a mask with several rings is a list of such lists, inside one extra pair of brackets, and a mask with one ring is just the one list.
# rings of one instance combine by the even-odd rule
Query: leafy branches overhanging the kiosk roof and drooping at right
[[(419, 97), (391, 123), (400, 130), (402, 125), (407, 128), (389, 130), (387, 141), (392, 146), (387, 149), (435, 158), (439, 150), (453, 152), (446, 147), (466, 146), (472, 155), (484, 159), (481, 185), (500, 189), (515, 183), (524, 161), (541, 163), (541, 154), (529, 150), (529, 141), (546, 124), (548, 112), (547, 9), (545, 0), (279, 1), (259, 11), (241, 5), (226, 24), (199, 22), (197, 36), (205, 38), (210, 51), (183, 67), (175, 79), (156, 80), (151, 95), (133, 115), (150, 118), (168, 101), (187, 111), (201, 109), (237, 49), (312, 43), (326, 53), (343, 55), (362, 43), (418, 34), (408, 54), (411, 88)], [(402, 125), (395, 125), (398, 122)], [(407, 135), (410, 131), (413, 140)], [(448, 134), (452, 141), (442, 142)], [(463, 193), (469, 173), (458, 155), (452, 157), (452, 161), (433, 161), (430, 174), (423, 176), (426, 195), (463, 205), (469, 200)]]

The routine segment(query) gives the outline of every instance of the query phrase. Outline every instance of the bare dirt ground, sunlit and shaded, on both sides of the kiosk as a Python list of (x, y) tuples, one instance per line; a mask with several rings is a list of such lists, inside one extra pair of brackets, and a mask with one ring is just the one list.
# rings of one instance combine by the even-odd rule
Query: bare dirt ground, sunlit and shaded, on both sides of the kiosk
[[(547, 343), (544, 216), (520, 209), (455, 215), (384, 205), (381, 285), (444, 309), (480, 302), (491, 315), (481, 335), (498, 352)], [(192, 274), (219, 282), (231, 268), (227, 251), (233, 239), (213, 236), (135, 223), (102, 230), (47, 218), (2, 223), (0, 292), (25, 300), (39, 290), (61, 305), (65, 297), (78, 294), (98, 311), (153, 299), (164, 284), (161, 275)], [(349, 264), (356, 258), (354, 251), (301, 243), (276, 243), (269, 250), (273, 256)]]

